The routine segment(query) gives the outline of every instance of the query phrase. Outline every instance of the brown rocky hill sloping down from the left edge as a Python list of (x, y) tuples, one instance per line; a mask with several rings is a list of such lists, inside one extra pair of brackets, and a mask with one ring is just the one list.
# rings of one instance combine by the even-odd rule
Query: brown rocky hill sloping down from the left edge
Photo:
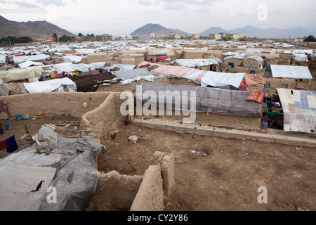
[(71, 32), (64, 30), (52, 23), (46, 21), (34, 21), (34, 22), (15, 22), (7, 20), (0, 15), (0, 38), (1, 37), (31, 37), (32, 39), (41, 38), (44, 36), (53, 36), (56, 33), (59, 36), (75, 36)]

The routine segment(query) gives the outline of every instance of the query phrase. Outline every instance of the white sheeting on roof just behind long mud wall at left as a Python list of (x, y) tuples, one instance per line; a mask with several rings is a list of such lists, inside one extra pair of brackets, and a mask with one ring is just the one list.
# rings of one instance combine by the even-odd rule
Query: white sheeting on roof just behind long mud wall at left
[(77, 91), (77, 85), (68, 77), (62, 79), (51, 79), (45, 82), (24, 83), (24, 86), (29, 93), (51, 92), (56, 89), (58, 89), (59, 92), (64, 92), (64, 86), (67, 87), (69, 92)]

